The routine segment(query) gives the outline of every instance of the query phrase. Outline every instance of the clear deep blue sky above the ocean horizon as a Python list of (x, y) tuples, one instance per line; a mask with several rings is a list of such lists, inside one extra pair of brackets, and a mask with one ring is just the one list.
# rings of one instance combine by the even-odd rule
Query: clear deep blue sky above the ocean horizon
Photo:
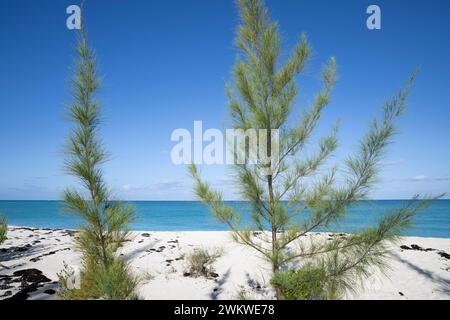
[[(450, 193), (450, 2), (267, 0), (285, 55), (306, 32), (314, 56), (299, 78), (298, 110), (319, 88), (321, 65), (336, 56), (340, 80), (317, 130), (341, 119), (339, 162), (355, 150), (370, 119), (416, 67), (422, 71), (373, 198)], [(59, 199), (74, 185), (61, 150), (74, 60), (66, 7), (77, 1), (0, 1), (0, 199)], [(382, 29), (366, 28), (377, 4)], [(230, 0), (88, 0), (86, 24), (104, 76), (105, 175), (118, 197), (192, 199), (185, 166), (170, 159), (176, 128), (228, 123), (224, 81), (236, 56), (237, 11)], [(229, 168), (205, 178), (236, 198)]]

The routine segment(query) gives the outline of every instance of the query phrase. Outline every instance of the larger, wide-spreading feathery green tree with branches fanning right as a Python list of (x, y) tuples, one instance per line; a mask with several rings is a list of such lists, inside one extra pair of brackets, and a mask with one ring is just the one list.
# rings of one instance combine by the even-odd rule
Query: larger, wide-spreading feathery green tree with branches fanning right
[[(291, 57), (282, 64), (278, 24), (269, 19), (264, 3), (239, 0), (238, 6), (236, 45), (240, 54), (233, 72), (234, 85), (227, 86), (231, 119), (236, 129), (279, 129), (279, 159), (276, 163), (233, 166), (240, 194), (251, 203), (250, 226), (241, 225), (239, 212), (225, 203), (221, 192), (213, 190), (191, 165), (195, 192), (213, 215), (228, 225), (237, 242), (250, 246), (271, 264), (277, 299), (339, 298), (347, 290), (356, 290), (371, 267), (386, 266), (389, 242), (411, 224), (425, 202), (407, 202), (386, 213), (375, 226), (347, 237), (308, 245), (299, 240), (341, 221), (350, 204), (367, 198), (416, 72), (397, 95), (385, 102), (382, 118), (373, 121), (356, 155), (345, 162), (345, 170), (338, 171), (335, 166), (326, 169), (326, 160), (338, 145), (337, 126), (319, 142), (315, 154), (305, 156), (305, 150), (329, 104), (336, 82), (335, 59), (330, 58), (325, 65), (322, 89), (312, 105), (296, 125), (290, 125), (296, 77), (311, 55), (311, 46), (302, 35)], [(268, 135), (267, 154), (273, 143)], [(267, 168), (275, 170), (262, 174)], [(300, 267), (290, 269), (292, 262), (300, 262)], [(281, 272), (282, 268), (289, 271)]]

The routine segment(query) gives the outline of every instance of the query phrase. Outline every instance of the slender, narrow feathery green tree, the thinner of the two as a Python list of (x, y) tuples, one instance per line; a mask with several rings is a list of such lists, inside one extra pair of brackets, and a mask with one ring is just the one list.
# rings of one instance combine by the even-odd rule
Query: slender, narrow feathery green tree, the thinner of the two
[(78, 61), (72, 80), (73, 102), (69, 108), (74, 130), (67, 145), (67, 171), (78, 179), (84, 192), (67, 189), (65, 208), (83, 221), (76, 236), (82, 253), (81, 286), (69, 289), (61, 273), (60, 295), (68, 299), (128, 299), (134, 297), (136, 279), (117, 250), (129, 236), (134, 209), (111, 199), (102, 164), (108, 158), (98, 138), (100, 108), (95, 100), (99, 80), (93, 51), (88, 46), (84, 25), (77, 44)]

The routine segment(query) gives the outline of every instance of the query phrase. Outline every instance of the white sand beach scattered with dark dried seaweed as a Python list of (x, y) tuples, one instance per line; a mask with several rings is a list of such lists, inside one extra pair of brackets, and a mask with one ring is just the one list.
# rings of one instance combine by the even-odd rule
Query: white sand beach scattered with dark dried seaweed
[[(304, 241), (329, 236), (314, 233)], [(0, 299), (58, 299), (57, 273), (64, 263), (74, 269), (79, 263), (72, 237), (63, 229), (10, 226), (0, 246)], [(223, 252), (212, 277), (185, 274), (185, 257), (199, 248)], [(393, 251), (391, 270), (374, 273), (347, 299), (450, 299), (450, 239), (404, 237)], [(252, 299), (274, 297), (268, 265), (228, 232), (133, 232), (121, 254), (142, 279), (142, 299), (237, 299), (242, 290)]]

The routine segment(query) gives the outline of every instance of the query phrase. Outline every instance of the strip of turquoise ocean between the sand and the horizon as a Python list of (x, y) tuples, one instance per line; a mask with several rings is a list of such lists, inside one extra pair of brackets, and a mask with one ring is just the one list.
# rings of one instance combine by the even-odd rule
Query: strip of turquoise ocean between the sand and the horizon
[[(339, 225), (329, 230), (315, 231), (352, 232), (374, 221), (386, 211), (401, 206), (408, 200), (361, 201), (349, 207), (349, 213)], [(197, 201), (130, 201), (135, 206), (137, 219), (133, 230), (142, 231), (213, 231), (227, 230), (216, 221), (208, 208)], [(250, 207), (246, 202), (230, 201), (231, 206), (242, 213), (246, 224)], [(60, 201), (0, 201), (0, 212), (8, 223), (17, 226), (39, 228), (75, 229), (82, 221), (76, 215), (65, 213)], [(308, 213), (305, 212), (305, 215)], [(406, 235), (420, 237), (450, 238), (450, 200), (433, 201), (414, 219), (414, 226)]]

